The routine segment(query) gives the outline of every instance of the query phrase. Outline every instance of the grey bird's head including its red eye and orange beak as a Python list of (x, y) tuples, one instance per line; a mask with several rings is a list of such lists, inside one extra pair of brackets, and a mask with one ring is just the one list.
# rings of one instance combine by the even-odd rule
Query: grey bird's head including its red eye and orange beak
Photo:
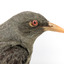
[[(19, 20), (19, 31), (23, 36), (35, 39), (45, 31), (64, 33), (64, 29), (49, 22), (44, 16), (34, 12), (22, 12), (16, 16)], [(17, 21), (17, 20), (16, 20)]]

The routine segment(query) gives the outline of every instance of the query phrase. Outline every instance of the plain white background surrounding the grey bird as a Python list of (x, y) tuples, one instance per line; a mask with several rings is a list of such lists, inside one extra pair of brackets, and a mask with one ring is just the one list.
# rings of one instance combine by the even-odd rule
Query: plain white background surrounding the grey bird
[[(22, 11), (38, 12), (64, 28), (64, 0), (0, 0), (0, 24)], [(47, 31), (38, 37), (30, 64), (64, 64), (64, 34)]]

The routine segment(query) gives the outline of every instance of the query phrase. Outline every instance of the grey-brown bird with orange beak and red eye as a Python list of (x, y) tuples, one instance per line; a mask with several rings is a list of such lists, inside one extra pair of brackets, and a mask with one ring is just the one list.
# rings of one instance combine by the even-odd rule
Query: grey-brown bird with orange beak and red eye
[(40, 13), (23, 11), (0, 25), (0, 64), (29, 64), (33, 44), (45, 31), (64, 33)]

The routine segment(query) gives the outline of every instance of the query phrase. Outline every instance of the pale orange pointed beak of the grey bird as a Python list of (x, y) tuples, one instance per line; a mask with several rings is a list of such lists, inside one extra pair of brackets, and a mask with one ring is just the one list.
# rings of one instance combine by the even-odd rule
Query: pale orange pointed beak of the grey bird
[(48, 26), (47, 27), (43, 27), (45, 31), (55, 31), (55, 32), (61, 32), (64, 33), (64, 29), (59, 27), (56, 24), (50, 23), (48, 22)]

